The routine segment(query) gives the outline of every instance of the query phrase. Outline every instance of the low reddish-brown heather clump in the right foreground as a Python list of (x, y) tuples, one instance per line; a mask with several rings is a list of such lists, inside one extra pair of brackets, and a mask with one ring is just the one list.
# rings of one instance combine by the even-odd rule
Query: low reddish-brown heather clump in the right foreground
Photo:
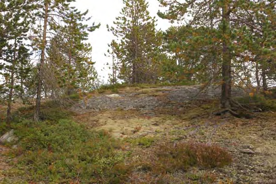
[(216, 145), (202, 143), (167, 143), (157, 147), (138, 168), (155, 174), (187, 171), (190, 167), (223, 167), (232, 162), (231, 155)]

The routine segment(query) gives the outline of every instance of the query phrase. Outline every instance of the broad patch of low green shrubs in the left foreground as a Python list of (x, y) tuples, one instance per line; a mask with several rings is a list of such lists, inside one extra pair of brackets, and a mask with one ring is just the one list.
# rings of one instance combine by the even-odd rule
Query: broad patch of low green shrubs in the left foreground
[(33, 182), (121, 184), (129, 168), (118, 141), (103, 132), (91, 132), (70, 120), (22, 123), (16, 131), (22, 154), (19, 165)]

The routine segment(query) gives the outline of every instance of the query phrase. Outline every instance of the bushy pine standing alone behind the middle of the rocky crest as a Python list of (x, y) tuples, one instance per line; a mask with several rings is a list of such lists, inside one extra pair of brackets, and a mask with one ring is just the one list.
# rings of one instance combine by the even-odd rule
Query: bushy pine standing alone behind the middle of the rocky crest
[(162, 39), (155, 30), (156, 20), (149, 16), (145, 0), (123, 0), (121, 16), (109, 30), (120, 42), (117, 55), (120, 78), (130, 83), (155, 82), (156, 53)]

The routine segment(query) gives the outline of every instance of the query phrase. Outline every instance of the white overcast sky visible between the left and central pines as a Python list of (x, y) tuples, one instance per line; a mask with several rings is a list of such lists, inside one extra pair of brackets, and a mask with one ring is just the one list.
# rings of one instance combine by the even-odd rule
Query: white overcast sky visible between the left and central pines
[[(110, 58), (104, 56), (108, 50), (108, 43), (111, 42), (114, 37), (107, 31), (106, 25), (112, 25), (112, 22), (117, 16), (120, 15), (120, 11), (123, 8), (123, 0), (76, 0), (73, 5), (81, 11), (89, 10), (89, 16), (92, 16), (92, 22), (101, 23), (101, 27), (92, 32), (89, 37), (89, 42), (92, 44), (92, 60), (96, 62), (95, 67), (100, 79), (107, 81), (108, 70), (104, 68), (104, 64), (110, 62)], [(156, 14), (159, 7), (158, 0), (148, 0), (149, 12), (151, 17), (156, 17), (157, 29), (166, 30), (170, 23), (167, 20), (159, 18)], [(102, 71), (103, 70), (103, 71)]]

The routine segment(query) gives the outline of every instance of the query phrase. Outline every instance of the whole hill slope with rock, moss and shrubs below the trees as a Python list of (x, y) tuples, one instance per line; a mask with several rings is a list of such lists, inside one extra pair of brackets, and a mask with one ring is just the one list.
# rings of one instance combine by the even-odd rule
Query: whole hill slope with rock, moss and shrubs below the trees
[[(239, 103), (262, 111), (216, 116), (220, 87), (201, 90), (110, 88), (76, 94), (67, 107), (46, 102), (45, 121), (14, 125), (22, 143), (5, 155), (10, 163), (1, 157), (0, 169), (10, 169), (0, 178), (12, 184), (275, 184), (273, 103), (236, 88)], [(31, 110), (17, 113), (30, 117)]]

